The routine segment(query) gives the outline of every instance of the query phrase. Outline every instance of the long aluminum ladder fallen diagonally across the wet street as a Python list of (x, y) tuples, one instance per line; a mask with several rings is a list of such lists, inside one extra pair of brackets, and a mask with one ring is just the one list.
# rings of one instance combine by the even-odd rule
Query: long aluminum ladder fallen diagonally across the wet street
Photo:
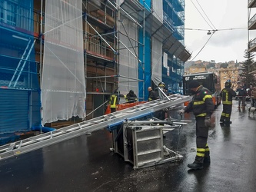
[(173, 94), (165, 98), (139, 104), (135, 107), (116, 111), (114, 113), (106, 114), (88, 121), (82, 121), (78, 124), (72, 124), (68, 127), (63, 127), (45, 134), (29, 137), (22, 141), (15, 141), (11, 144), (5, 144), (0, 146), (0, 160), (24, 154), (29, 151), (34, 151), (61, 141), (66, 141), (72, 137), (78, 137), (82, 134), (89, 134), (92, 131), (98, 131), (105, 127), (112, 127), (122, 124), (125, 120), (142, 118), (151, 115), (155, 111), (160, 111), (165, 108), (177, 108), (179, 105), (189, 100), (190, 96)]

